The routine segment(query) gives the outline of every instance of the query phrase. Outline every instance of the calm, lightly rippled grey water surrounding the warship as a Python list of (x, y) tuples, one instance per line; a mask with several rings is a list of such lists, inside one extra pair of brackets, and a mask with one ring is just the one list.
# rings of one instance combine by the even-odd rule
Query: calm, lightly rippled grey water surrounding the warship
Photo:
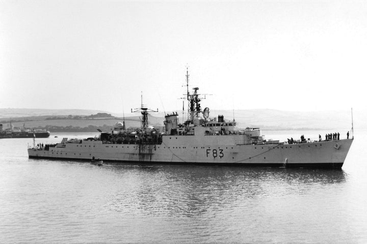
[(342, 170), (98, 167), (0, 139), (0, 242), (367, 243), (367, 132), (355, 135)]

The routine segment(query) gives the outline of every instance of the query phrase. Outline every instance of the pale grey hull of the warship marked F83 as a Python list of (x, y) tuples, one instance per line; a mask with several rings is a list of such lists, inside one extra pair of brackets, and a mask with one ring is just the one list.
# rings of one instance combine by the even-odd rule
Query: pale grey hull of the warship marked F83
[(216, 137), (201, 140), (193, 137), (189, 138), (191, 141), (182, 141), (187, 138), (170, 137), (162, 144), (59, 143), (48, 150), (30, 148), (28, 154), (29, 158), (89, 161), (95, 157), (105, 162), (147, 164), (341, 168), (353, 141), (243, 145), (216, 143)]

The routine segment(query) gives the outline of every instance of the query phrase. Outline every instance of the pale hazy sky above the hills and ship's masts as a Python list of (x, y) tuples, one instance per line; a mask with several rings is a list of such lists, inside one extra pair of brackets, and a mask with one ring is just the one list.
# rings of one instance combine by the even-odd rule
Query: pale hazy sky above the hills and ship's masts
[(365, 109), (366, 61), (366, 1), (0, 1), (0, 108)]

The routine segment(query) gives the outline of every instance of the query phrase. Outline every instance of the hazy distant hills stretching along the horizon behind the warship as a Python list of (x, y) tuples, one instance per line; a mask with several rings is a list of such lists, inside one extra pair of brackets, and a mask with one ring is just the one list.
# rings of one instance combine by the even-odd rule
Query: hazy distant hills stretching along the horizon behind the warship
[[(110, 113), (114, 118), (94, 118), (94, 119), (67, 119), (68, 115), (86, 116), (96, 113)], [(178, 114), (180, 112), (178, 111)], [(211, 110), (209, 116), (217, 117), (219, 114), (224, 115), (226, 120), (233, 119), (233, 111), (231, 110)], [(14, 116), (10, 116), (14, 115)], [(54, 119), (54, 117), (63, 115), (64, 119)], [(118, 114), (121, 115), (121, 114)], [(12, 123), (14, 126), (26, 127), (46, 127), (46, 126), (107, 126), (112, 127), (117, 121), (123, 118), (117, 114), (98, 110), (80, 110), (80, 109), (0, 109), (0, 121), (3, 121), (5, 127), (8, 121), (16, 121)], [(72, 116), (77, 117), (77, 116)], [(89, 116), (91, 117), (91, 116)], [(248, 109), (235, 110), (234, 118), (237, 126), (240, 128), (259, 127), (269, 130), (301, 130), (301, 129), (350, 129), (351, 114), (350, 111), (282, 111), (274, 109)], [(164, 114), (155, 113), (154, 116), (149, 115), (149, 124), (154, 126), (163, 126)], [(367, 113), (365, 111), (354, 111), (354, 128), (367, 129)], [(125, 116), (126, 126), (140, 126), (140, 116)], [(180, 115), (180, 121), (182, 121)]]

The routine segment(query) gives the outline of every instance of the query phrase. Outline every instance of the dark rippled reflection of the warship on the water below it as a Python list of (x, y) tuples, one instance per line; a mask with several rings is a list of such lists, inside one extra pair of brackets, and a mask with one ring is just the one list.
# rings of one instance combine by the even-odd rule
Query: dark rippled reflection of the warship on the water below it
[(103, 170), (127, 178), (136, 176), (134, 185), (120, 188), (113, 196), (112, 209), (177, 217), (197, 217), (261, 198), (307, 194), (347, 178), (343, 170), (328, 169), (125, 164)]

